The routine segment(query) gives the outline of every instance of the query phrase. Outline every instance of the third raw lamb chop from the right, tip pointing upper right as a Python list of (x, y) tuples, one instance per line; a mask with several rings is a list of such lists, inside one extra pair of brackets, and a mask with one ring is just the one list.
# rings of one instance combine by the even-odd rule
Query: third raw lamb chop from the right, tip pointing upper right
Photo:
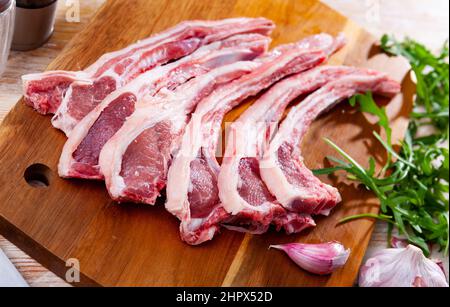
[(264, 231), (254, 227), (253, 216), (240, 216), (236, 221), (220, 204), (215, 151), (223, 116), (283, 77), (317, 66), (342, 45), (342, 37), (335, 40), (321, 34), (280, 46), (260, 60), (263, 65), (256, 71), (221, 87), (197, 106), (169, 170), (166, 193), (166, 209), (181, 220), (184, 241), (200, 244), (210, 240), (220, 222), (238, 223), (253, 233)]

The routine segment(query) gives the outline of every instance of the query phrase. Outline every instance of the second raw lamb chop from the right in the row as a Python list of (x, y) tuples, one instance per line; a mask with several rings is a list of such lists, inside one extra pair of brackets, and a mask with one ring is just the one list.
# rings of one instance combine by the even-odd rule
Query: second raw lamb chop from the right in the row
[[(321, 66), (289, 77), (274, 85), (230, 126), (218, 188), (222, 206), (235, 220), (244, 216), (260, 232), (265, 232), (271, 223), (287, 233), (314, 226), (310, 215), (288, 212), (277, 202), (261, 179), (259, 160), (292, 100), (357, 71), (344, 66)], [(239, 226), (232, 227), (239, 230)]]

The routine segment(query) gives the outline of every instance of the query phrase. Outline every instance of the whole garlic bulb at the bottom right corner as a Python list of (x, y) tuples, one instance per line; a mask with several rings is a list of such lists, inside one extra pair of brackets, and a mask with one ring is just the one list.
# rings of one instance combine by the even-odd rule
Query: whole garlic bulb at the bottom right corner
[(441, 268), (414, 245), (388, 248), (368, 259), (359, 275), (361, 287), (448, 287)]

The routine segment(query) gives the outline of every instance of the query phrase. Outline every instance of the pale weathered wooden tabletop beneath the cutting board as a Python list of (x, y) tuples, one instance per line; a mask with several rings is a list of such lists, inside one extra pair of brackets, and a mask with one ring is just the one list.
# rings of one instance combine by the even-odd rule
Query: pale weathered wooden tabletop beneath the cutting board
[[(0, 78), (0, 121), (21, 96), (20, 76), (45, 69), (65, 44), (89, 21), (104, 0), (80, 0), (80, 22), (68, 22), (66, 15), (76, 12), (59, 1), (55, 33), (43, 47), (29, 52), (12, 52), (8, 67)], [(408, 35), (436, 49), (448, 38), (449, 3), (446, 0), (324, 0), (326, 4), (353, 19), (373, 34)], [(77, 3), (77, 1), (75, 1)], [(386, 227), (378, 223), (366, 257), (386, 247)], [(67, 284), (0, 236), (0, 248), (12, 260), (31, 286)], [(439, 256), (439, 254), (435, 255)], [(448, 267), (448, 259), (447, 259)]]

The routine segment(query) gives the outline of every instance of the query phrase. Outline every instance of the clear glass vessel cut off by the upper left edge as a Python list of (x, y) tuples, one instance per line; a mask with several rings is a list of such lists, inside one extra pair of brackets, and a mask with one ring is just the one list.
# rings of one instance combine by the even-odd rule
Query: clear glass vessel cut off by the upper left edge
[(15, 0), (0, 0), (0, 76), (6, 69), (14, 33)]

